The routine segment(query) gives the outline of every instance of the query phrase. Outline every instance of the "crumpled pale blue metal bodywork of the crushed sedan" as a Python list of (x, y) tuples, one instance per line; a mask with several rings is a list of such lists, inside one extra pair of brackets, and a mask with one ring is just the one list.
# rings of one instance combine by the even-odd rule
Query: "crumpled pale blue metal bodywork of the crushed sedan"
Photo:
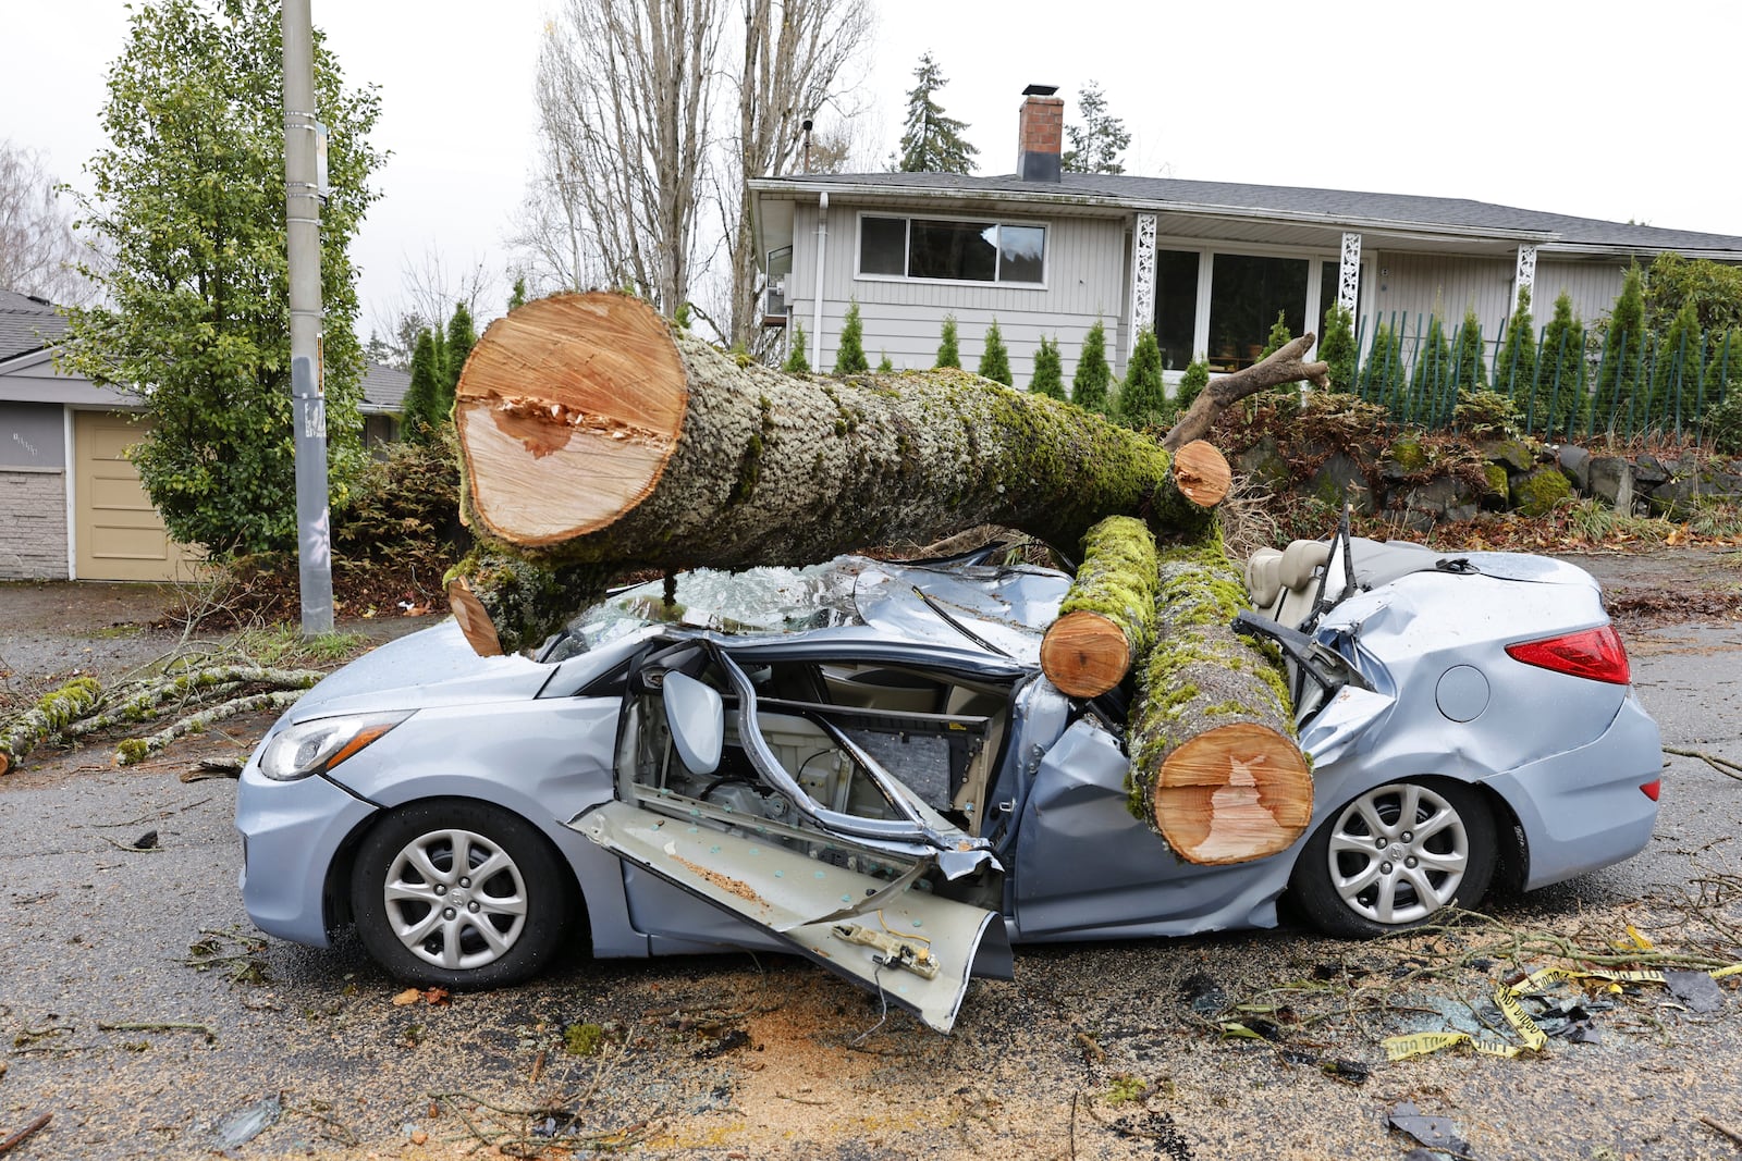
[[(787, 919), (820, 923), (820, 896), (789, 898), (784, 919), (758, 926), (742, 909), (733, 910), (732, 898), (711, 895), (707, 876), (672, 869), (667, 836), (655, 830), (669, 832), (674, 822), (653, 827), (641, 815), (658, 818), (658, 811), (618, 802), (625, 700), (611, 674), (622, 675), (658, 642), (693, 639), (723, 649), (742, 668), (852, 660), (1010, 691), (984, 802), (956, 804), (977, 839), (972, 858), (984, 863), (996, 856), (1007, 869), (1005, 917), (1000, 924), (946, 924), (958, 936), (974, 928), (974, 940), (984, 936), (993, 947), (1003, 942), (1005, 923), (1012, 938), (1028, 942), (1275, 924), (1275, 902), (1301, 844), (1254, 863), (1179, 863), (1125, 806), (1117, 714), (1110, 717), (1103, 701), (1071, 701), (1038, 675), (1040, 635), (1068, 578), (1040, 569), (942, 571), (864, 560), (836, 567), (841, 576), (824, 581), (833, 587), (826, 592), (829, 616), (820, 618), (827, 623), (801, 632), (740, 635), (706, 618), (678, 627), (631, 618), (578, 656), (542, 663), (477, 658), (446, 621), (354, 661), (305, 695), (267, 740), (310, 717), (416, 712), (331, 776), (268, 782), (258, 773), (256, 750), (237, 808), (247, 837), (249, 914), (273, 935), (324, 943), (327, 867), (340, 863), (343, 874), (341, 853), (369, 818), (420, 799), (467, 797), (519, 813), (556, 844), (575, 869), (598, 956), (721, 943), (794, 947), (793, 931), (805, 924), (775, 928)], [(1329, 567), (1331, 587), (1340, 588), (1340, 560)], [(1644, 844), (1657, 808), (1639, 787), (1657, 778), (1660, 752), (1657, 726), (1631, 689), (1505, 654), (1512, 642), (1606, 623), (1597, 587), (1582, 569), (1542, 557), (1446, 557), (1355, 541), (1354, 571), (1374, 588), (1347, 595), (1312, 625), (1317, 641), (1341, 653), (1369, 686), (1338, 689), (1303, 722), (1303, 748), (1313, 757), (1315, 827), (1373, 787), (1439, 776), (1481, 785), (1505, 804), (1528, 839), (1526, 886), (1618, 862)], [(843, 592), (859, 623), (841, 623)], [(613, 806), (601, 813), (604, 804)], [(594, 815), (592, 837), (564, 825), (580, 820), (585, 829)], [(923, 822), (934, 836), (944, 834), (932, 816)], [(939, 849), (923, 829), (906, 820), (899, 827), (906, 834), (885, 836), (892, 844), (885, 849), (908, 842), (908, 860), (923, 860), (922, 848)], [(754, 839), (740, 832), (735, 842)], [(714, 844), (723, 855), (726, 844), (709, 837), (707, 848)], [(737, 862), (725, 870), (709, 867), (711, 849), (685, 858), (744, 879)], [(855, 884), (861, 896), (887, 886), (887, 876)], [(854, 891), (831, 898), (841, 893)], [(932, 921), (922, 923), (930, 928)], [(888, 926), (899, 931), (899, 923)], [(953, 936), (948, 956), (939, 949), (941, 959), (953, 970), (974, 959), (967, 950), (974, 940)], [(824, 931), (800, 950), (840, 950), (833, 943), (840, 940)], [(888, 954), (880, 940), (852, 947), (864, 956)], [(883, 983), (892, 975), (913, 973), (892, 966), (881, 971)], [(955, 1003), (913, 1003), (930, 1020), (955, 1013)]]

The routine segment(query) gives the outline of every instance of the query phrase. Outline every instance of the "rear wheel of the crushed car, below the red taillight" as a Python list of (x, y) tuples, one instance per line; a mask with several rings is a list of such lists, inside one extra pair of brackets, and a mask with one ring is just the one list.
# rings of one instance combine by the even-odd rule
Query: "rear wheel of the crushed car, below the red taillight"
[(1479, 790), (1442, 778), (1392, 782), (1331, 811), (1301, 848), (1289, 893), (1320, 931), (1373, 938), (1428, 923), (1448, 905), (1475, 907), (1496, 855), (1495, 816)]

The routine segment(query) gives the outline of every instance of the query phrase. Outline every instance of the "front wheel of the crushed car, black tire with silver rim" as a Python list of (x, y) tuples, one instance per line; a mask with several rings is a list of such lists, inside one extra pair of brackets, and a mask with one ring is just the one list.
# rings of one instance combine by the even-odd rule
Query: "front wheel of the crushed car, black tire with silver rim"
[[(484, 869), (483, 879), (455, 865), (456, 849), (470, 870)], [(381, 818), (357, 848), (350, 907), (381, 968), (449, 989), (545, 971), (578, 910), (573, 876), (549, 839), (472, 799), (413, 802)]]

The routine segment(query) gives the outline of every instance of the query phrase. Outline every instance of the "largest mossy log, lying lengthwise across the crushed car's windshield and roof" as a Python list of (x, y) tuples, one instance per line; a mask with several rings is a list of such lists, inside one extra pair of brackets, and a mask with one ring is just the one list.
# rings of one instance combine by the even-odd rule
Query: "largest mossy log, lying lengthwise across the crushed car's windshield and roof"
[(1207, 444), (1174, 456), (962, 371), (782, 374), (620, 294), (493, 322), (453, 414), (481, 543), (448, 595), (483, 654), (537, 644), (632, 569), (810, 564), (977, 524), (1071, 547), (1113, 513), (1197, 533), (1228, 487)]

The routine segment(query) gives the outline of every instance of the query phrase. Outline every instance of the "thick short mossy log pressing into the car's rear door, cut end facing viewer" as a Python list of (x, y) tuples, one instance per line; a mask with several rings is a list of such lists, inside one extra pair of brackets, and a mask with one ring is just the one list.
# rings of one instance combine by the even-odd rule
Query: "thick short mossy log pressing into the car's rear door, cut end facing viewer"
[(1127, 721), (1131, 809), (1192, 863), (1287, 849), (1312, 820), (1282, 660), (1230, 621), (1249, 607), (1219, 536), (1160, 552), (1155, 644)]

